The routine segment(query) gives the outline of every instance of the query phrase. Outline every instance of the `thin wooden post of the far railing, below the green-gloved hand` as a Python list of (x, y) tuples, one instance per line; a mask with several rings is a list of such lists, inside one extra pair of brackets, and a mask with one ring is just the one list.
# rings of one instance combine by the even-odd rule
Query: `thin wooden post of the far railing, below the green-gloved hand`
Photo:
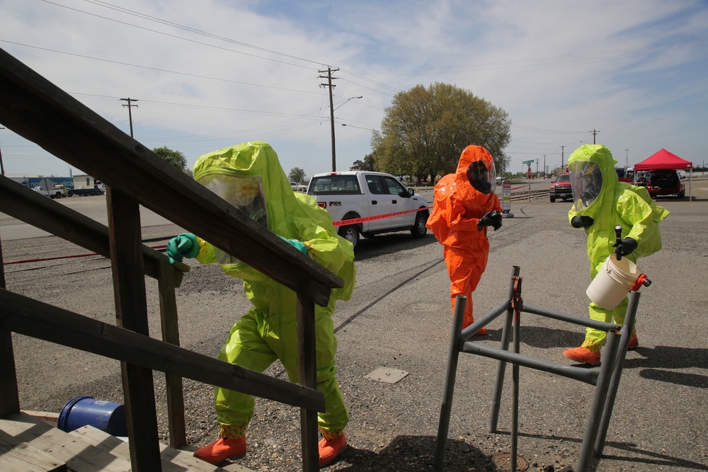
[[(177, 301), (175, 299), (175, 268), (166, 260), (160, 262), (157, 287), (160, 294), (160, 318), (162, 340), (165, 343), (179, 345), (179, 324), (177, 321)], [(170, 428), (170, 446), (187, 444), (187, 432), (184, 421), (184, 392), (182, 377), (166, 374), (167, 412)]]

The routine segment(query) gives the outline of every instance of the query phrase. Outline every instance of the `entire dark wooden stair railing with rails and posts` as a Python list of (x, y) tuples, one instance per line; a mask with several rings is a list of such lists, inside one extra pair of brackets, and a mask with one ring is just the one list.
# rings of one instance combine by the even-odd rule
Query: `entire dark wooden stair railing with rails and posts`
[[(108, 238), (117, 322), (119, 326), (129, 328), (115, 328), (86, 318), (88, 321), (81, 326), (89, 329), (89, 333), (79, 333), (75, 329), (78, 321), (72, 317), (80, 315), (3, 290), (0, 291), (0, 359), (3, 364), (9, 366), (13, 361), (10, 331), (88, 352), (96, 352), (96, 345), (110, 347), (110, 352), (102, 351), (102, 355), (110, 354), (108, 357), (120, 359), (122, 362), (124, 396), (129, 417), (130, 455), (135, 471), (152, 471), (159, 468), (159, 450), (152, 445), (152, 439), (156, 438), (157, 425), (154, 418), (155, 404), (150, 369), (165, 372), (173, 379), (185, 376), (207, 384), (295, 405), (281, 398), (282, 392), (275, 392), (278, 393), (275, 395), (271, 389), (270, 393), (274, 396), (269, 396), (268, 388), (263, 384), (268, 384), (271, 379), (268, 376), (263, 376), (269, 379), (268, 381), (260, 376), (254, 381), (250, 375), (256, 373), (246, 374), (250, 371), (211, 358), (195, 359), (190, 357), (195, 355), (193, 352), (149, 338), (145, 307), (145, 272), (160, 280), (161, 314), (165, 318), (176, 316), (176, 310), (173, 310), (174, 300), (169, 302), (171, 306), (162, 304), (162, 301), (164, 298), (174, 297), (173, 286), (178, 284), (178, 281), (169, 282), (170, 277), (162, 277), (166, 270), (166, 256), (140, 243), (139, 205), (142, 205), (183, 229), (199, 234), (297, 293), (298, 346), (302, 364), (299, 366), (299, 374), (307, 390), (297, 390), (305, 387), (295, 386), (290, 382), (285, 382), (285, 388), (296, 388), (296, 391), (290, 392), (293, 393), (290, 398), (295, 398), (297, 406), (301, 408), (304, 470), (314, 471), (319, 468), (315, 412), (324, 410), (324, 396), (319, 394), (316, 396), (317, 401), (314, 401), (309, 395), (309, 392), (319, 393), (316, 391), (314, 371), (314, 304), (329, 304), (331, 289), (343, 287), (344, 281), (307, 255), (296, 251), (290, 244), (251, 220), (239, 209), (195, 183), (4, 50), (0, 50), (0, 98), (4, 103), (0, 107), (0, 122), (6, 127), (39, 144), (59, 159), (100, 178), (109, 186), (106, 197), (109, 220), (107, 236), (105, 226), (97, 226), (93, 220), (86, 221), (85, 217), (72, 215), (81, 220), (79, 226), (86, 231), (86, 234), (77, 234), (69, 228), (66, 221), (57, 219), (55, 210), (62, 212), (63, 210), (58, 208), (62, 205), (55, 207), (51, 202), (40, 202), (36, 195), (23, 193), (26, 189), (18, 190), (11, 185), (7, 186), (6, 182), (0, 182), (3, 184), (0, 193), (11, 195), (16, 205), (26, 205), (27, 202), (23, 202), (23, 198), (33, 199), (36, 205), (30, 205), (27, 219), (33, 221), (35, 226), (47, 229), (57, 236), (65, 236), (74, 243), (79, 241), (81, 246), (94, 248), (96, 253), (105, 255), (105, 241)], [(11, 214), (18, 215), (16, 212)], [(174, 270), (171, 272), (171, 275), (177, 273)], [(181, 274), (178, 276), (181, 277)], [(166, 285), (169, 283), (172, 284), (171, 289)], [(11, 302), (14, 304), (10, 305)], [(50, 318), (40, 316), (40, 313), (32, 313), (32, 309), (42, 311), (42, 314), (52, 313), (52, 317), (58, 316), (64, 321), (73, 320), (70, 325), (72, 327), (57, 326), (50, 322)], [(172, 313), (168, 313), (169, 311)], [(176, 320), (173, 323), (176, 325)], [(176, 326), (163, 325), (165, 338), (178, 340), (176, 331), (172, 328)], [(104, 335), (112, 335), (114, 338), (104, 338)], [(96, 338), (100, 338), (102, 342), (96, 343)], [(137, 339), (143, 339), (140, 343), (145, 343), (139, 347), (150, 347), (148, 357), (142, 350), (136, 350), (135, 344), (131, 344), (137, 343)], [(106, 343), (111, 340), (115, 341), (115, 344)], [(126, 350), (126, 347), (130, 349)], [(166, 352), (161, 351), (170, 348), (183, 353), (167, 356)], [(162, 364), (156, 364), (158, 360)], [(171, 362), (169, 368), (165, 364), (168, 362)], [(218, 362), (220, 367), (212, 362)], [(214, 370), (205, 371), (205, 365), (213, 365)], [(219, 369), (225, 370), (222, 372)], [(205, 375), (213, 372), (217, 372), (217, 375)], [(229, 379), (229, 376), (234, 375), (241, 381), (238, 385), (229, 381), (234, 380)], [(171, 386), (181, 388), (177, 381)], [(255, 386), (258, 388), (254, 390)], [(6, 405), (0, 405), (0, 410), (11, 412), (18, 408), (16, 388), (16, 379), (13, 376), (0, 376), (0, 393), (8, 393), (8, 398), (4, 401)], [(181, 408), (179, 402), (173, 406)], [(146, 420), (145, 424), (139, 425), (141, 419)]]

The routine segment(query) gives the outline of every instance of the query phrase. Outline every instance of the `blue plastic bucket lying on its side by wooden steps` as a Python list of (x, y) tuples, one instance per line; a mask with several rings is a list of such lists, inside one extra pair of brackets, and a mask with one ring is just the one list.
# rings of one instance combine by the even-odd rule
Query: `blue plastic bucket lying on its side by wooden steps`
[(57, 427), (70, 432), (91, 425), (113, 436), (127, 436), (125, 405), (96, 400), (92, 396), (77, 396), (64, 405)]

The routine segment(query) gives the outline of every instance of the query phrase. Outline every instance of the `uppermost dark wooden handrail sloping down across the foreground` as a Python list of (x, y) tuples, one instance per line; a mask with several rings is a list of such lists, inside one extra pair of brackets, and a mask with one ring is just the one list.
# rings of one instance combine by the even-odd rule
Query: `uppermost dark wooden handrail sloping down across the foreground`
[[(0, 50), (0, 122), (316, 304), (344, 281)], [(169, 204), (168, 204), (169, 203)]]

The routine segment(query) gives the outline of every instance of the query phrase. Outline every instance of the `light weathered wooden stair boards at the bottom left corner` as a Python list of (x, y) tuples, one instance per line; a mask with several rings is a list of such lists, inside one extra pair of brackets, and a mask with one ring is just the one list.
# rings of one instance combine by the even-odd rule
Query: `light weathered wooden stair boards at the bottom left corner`
[[(162, 470), (165, 472), (252, 472), (229, 464), (212, 466), (165, 444), (159, 445)], [(28, 413), (18, 413), (0, 420), (0, 471), (23, 472), (129, 472), (128, 443), (84, 426), (64, 432)]]

